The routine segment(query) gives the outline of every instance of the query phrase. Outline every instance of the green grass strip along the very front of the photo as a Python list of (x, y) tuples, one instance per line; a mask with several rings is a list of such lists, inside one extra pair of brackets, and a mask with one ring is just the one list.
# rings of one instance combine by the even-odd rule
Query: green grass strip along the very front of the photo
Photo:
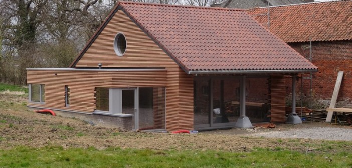
[(351, 157), (349, 152), (321, 155), (262, 148), (223, 152), (19, 146), (0, 149), (0, 167), (351, 167)]

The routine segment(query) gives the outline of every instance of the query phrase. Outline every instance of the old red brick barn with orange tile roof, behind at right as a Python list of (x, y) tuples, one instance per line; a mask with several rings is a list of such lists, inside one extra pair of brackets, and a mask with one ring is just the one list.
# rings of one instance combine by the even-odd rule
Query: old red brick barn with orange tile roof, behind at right
[[(309, 58), (311, 48), (311, 61), (319, 68), (311, 81), (309, 74), (303, 79), (303, 101), (311, 102), (312, 108), (328, 106), (337, 73), (344, 71), (337, 106), (351, 107), (352, 0), (270, 7), (270, 21), (267, 15), (260, 15), (267, 11), (267, 8), (248, 10), (260, 23), (267, 26), (270, 22), (270, 31), (301, 55)], [(299, 92), (300, 84), (301, 78), (297, 81)], [(286, 88), (290, 93), (290, 83)]]

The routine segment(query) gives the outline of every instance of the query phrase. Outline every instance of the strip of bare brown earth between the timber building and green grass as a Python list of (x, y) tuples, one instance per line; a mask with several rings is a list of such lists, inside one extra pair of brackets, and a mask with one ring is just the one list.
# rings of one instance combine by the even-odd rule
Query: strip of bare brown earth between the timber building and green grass
[[(334, 132), (352, 134), (352, 127), (350, 126), (318, 122), (312, 124), (307, 122), (301, 125), (280, 124), (274, 129), (233, 128), (200, 132), (198, 134), (129, 132), (117, 128), (93, 126), (74, 118), (38, 114), (27, 110), (25, 105), (18, 103), (7, 104), (0, 101), (0, 105), (0, 148), (3, 149), (18, 145), (34, 148), (55, 145), (64, 148), (94, 146), (98, 149), (120, 147), (156, 150), (196, 149), (203, 151), (251, 151), (258, 147), (275, 150), (279, 147), (305, 152), (309, 146), (322, 145), (323, 147), (324, 144), (328, 144), (328, 141), (313, 138), (304, 139), (301, 136), (292, 136), (289, 132), (304, 132), (305, 129), (310, 128), (313, 128), (313, 131), (316, 128), (329, 128), (329, 132), (326, 134), (333, 134)], [(286, 138), (285, 134), (288, 134), (289, 138)], [(350, 136), (342, 137), (339, 140), (348, 141), (351, 138)], [(352, 145), (346, 143), (342, 150), (352, 151)], [(342, 145), (344, 144), (342, 143)]]

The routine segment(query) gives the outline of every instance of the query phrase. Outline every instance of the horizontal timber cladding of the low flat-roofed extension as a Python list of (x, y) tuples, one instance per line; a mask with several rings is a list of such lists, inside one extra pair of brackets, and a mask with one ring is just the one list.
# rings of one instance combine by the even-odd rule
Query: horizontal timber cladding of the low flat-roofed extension
[[(45, 103), (29, 106), (91, 113), (96, 108), (95, 87), (165, 87), (166, 71), (27, 70), (27, 83), (45, 84)], [(70, 88), (69, 107), (65, 86)]]

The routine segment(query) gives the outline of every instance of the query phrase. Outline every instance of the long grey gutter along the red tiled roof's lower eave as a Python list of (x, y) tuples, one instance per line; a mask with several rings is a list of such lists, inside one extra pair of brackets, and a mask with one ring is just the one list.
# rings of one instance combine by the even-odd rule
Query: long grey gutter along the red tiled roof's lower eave
[(253, 74), (253, 73), (305, 73), (318, 72), (318, 69), (313, 70), (190, 70), (188, 74)]

